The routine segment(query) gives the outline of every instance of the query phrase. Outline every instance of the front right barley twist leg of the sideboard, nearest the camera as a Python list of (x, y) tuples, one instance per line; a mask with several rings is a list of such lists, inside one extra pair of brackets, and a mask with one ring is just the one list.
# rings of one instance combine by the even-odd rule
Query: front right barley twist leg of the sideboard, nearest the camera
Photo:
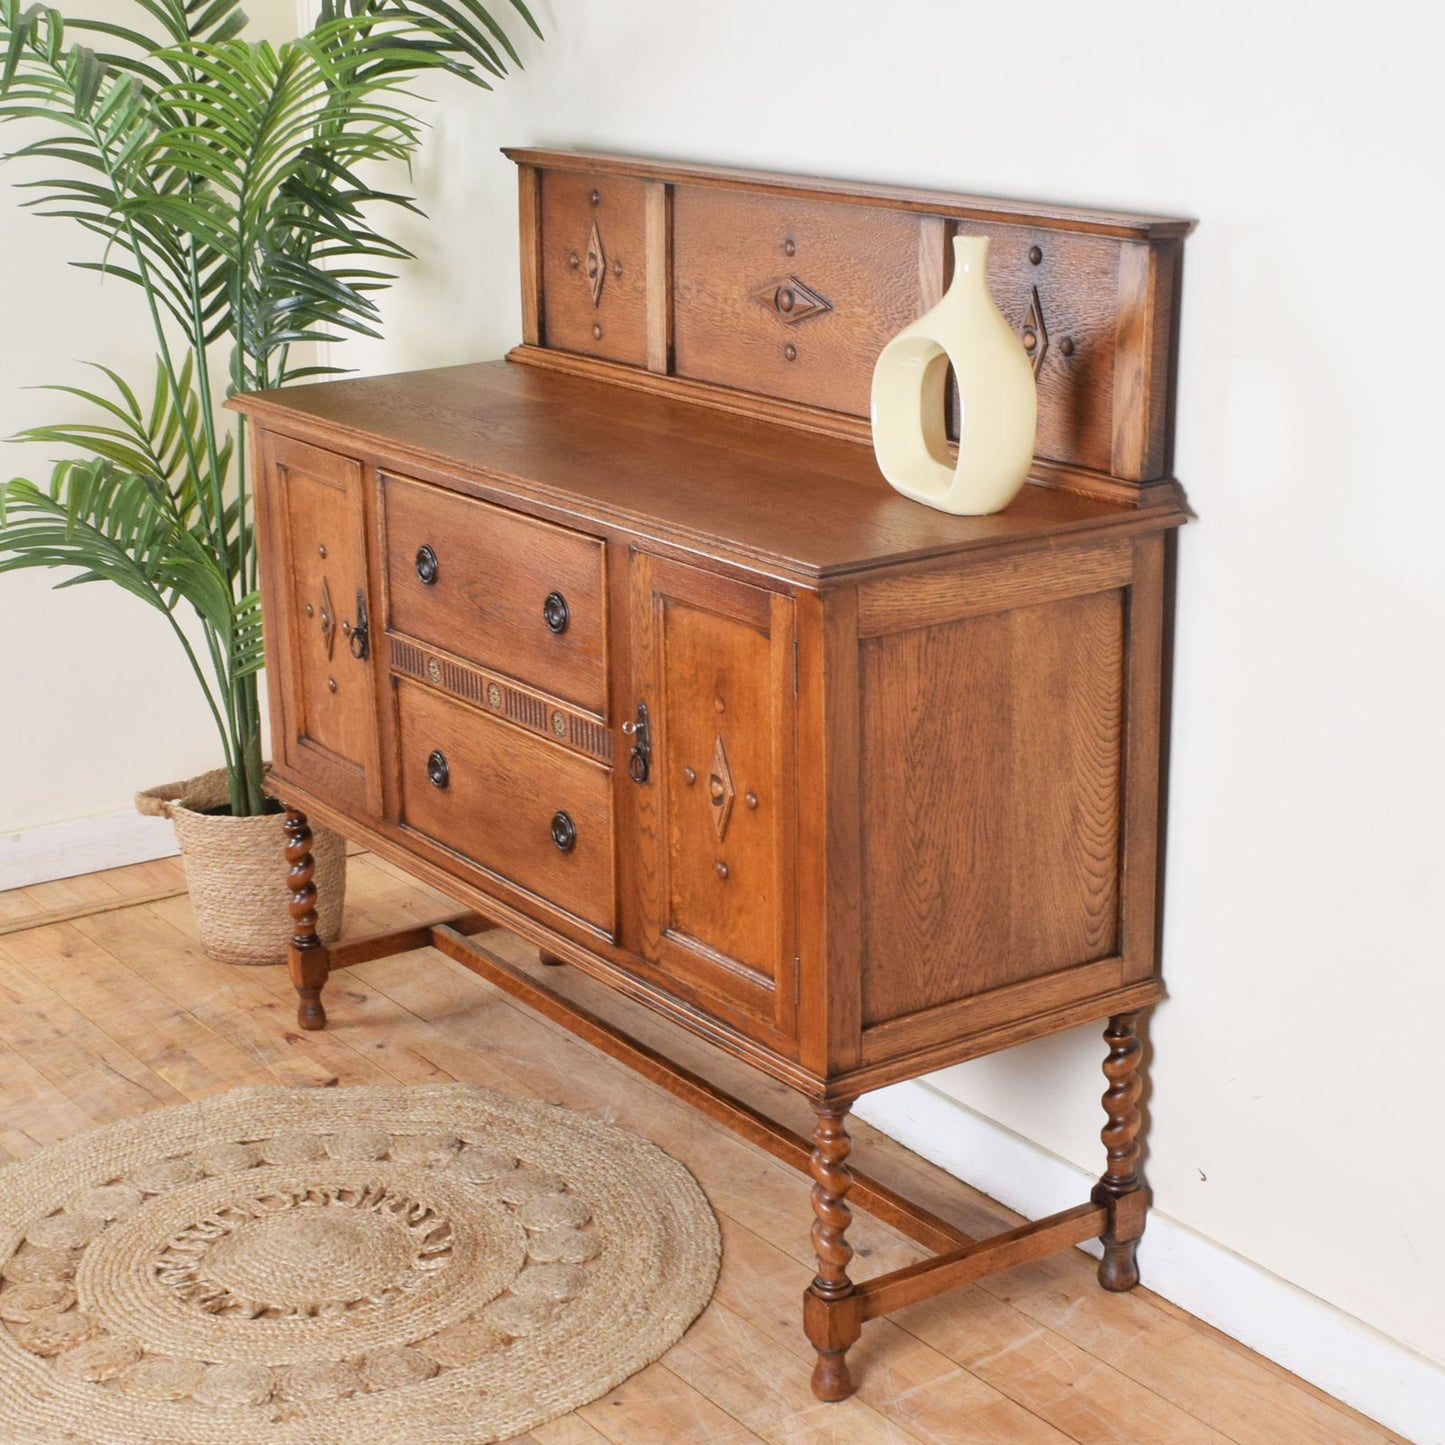
[(812, 1244), (818, 1273), (803, 1295), (803, 1328), (818, 1351), (812, 1389), (819, 1400), (845, 1400), (853, 1394), (848, 1347), (863, 1329), (860, 1299), (848, 1279), (853, 1246), (845, 1238), (853, 1222), (847, 1195), (853, 1173), (847, 1157), (851, 1140), (842, 1127), (853, 1101), (814, 1104), (818, 1126), (812, 1152)]

